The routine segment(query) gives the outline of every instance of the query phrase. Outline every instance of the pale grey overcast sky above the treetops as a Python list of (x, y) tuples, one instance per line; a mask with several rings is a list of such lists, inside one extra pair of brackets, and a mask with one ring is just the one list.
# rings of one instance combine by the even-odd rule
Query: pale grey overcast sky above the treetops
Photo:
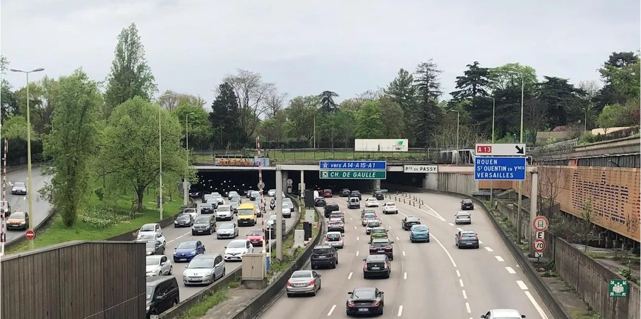
[[(158, 88), (213, 99), (236, 69), (281, 92), (339, 100), (433, 58), (445, 92), (465, 65), (531, 65), (539, 77), (599, 79), (612, 51), (641, 46), (631, 0), (0, 0), (0, 54), (15, 69), (104, 79), (117, 35), (138, 26)], [(24, 76), (4, 75), (14, 87)]]

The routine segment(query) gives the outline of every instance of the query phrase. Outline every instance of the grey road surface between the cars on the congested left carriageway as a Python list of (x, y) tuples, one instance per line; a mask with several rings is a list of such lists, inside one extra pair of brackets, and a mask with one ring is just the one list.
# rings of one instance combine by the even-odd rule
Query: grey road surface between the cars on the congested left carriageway
[[(249, 199), (243, 198), (243, 202), (249, 202)], [(271, 197), (265, 197), (265, 200), (267, 200), (267, 217), (269, 218), (270, 215), (276, 214), (276, 211), (274, 210), (269, 210), (269, 200), (271, 200)], [(227, 204), (228, 200), (225, 199), (225, 202)], [(198, 206), (198, 211), (200, 211), (200, 201), (197, 200), (197, 206)], [(299, 218), (299, 213), (296, 211), (292, 214), (292, 218), (285, 218), (285, 225), (286, 229), (292, 225), (294, 221), (296, 221), (296, 218)], [(258, 223), (254, 227), (238, 227), (238, 237), (236, 239), (244, 239), (246, 238), (247, 234), (249, 234), (249, 231), (253, 229), (261, 229), (262, 228), (262, 222), (263, 217), (258, 218)], [(266, 220), (266, 219), (265, 219)], [(237, 218), (234, 217), (233, 222), (237, 222)], [(220, 225), (221, 223), (224, 222), (217, 222), (217, 225)], [(165, 235), (165, 239), (167, 240), (167, 247), (165, 248), (165, 255), (172, 260), (173, 259), (173, 254), (174, 254), (174, 249), (178, 247), (178, 245), (183, 242), (183, 241), (189, 241), (189, 240), (200, 240), (203, 242), (204, 247), (205, 247), (205, 252), (206, 253), (220, 253), (222, 254), (225, 251), (225, 246), (231, 241), (231, 239), (224, 239), (224, 240), (219, 240), (216, 239), (216, 233), (213, 233), (211, 235), (199, 235), (199, 236), (192, 236), (192, 231), (190, 227), (179, 227), (176, 228), (173, 225), (169, 227), (165, 227), (163, 229), (163, 234)], [(260, 247), (255, 247), (254, 250), (257, 252), (260, 252), (262, 249)], [(206, 288), (206, 286), (185, 286), (183, 285), (183, 271), (185, 270), (185, 266), (188, 265), (188, 263), (174, 263), (173, 267), (173, 275), (176, 277), (176, 280), (178, 280), (178, 286), (180, 288), (180, 301), (183, 301), (187, 299), (188, 297), (191, 297), (192, 295), (195, 295), (199, 291), (203, 290)], [(225, 263), (225, 271), (227, 274), (229, 272), (232, 272), (233, 270), (236, 270), (238, 267), (242, 266), (242, 262), (240, 263), (231, 263), (231, 262), (226, 262)]]

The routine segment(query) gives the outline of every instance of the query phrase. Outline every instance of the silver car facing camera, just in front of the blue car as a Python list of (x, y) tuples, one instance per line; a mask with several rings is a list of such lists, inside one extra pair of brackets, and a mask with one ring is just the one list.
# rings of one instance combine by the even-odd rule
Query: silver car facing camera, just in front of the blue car
[(216, 279), (225, 276), (225, 261), (221, 254), (201, 254), (185, 266), (183, 284), (212, 284)]

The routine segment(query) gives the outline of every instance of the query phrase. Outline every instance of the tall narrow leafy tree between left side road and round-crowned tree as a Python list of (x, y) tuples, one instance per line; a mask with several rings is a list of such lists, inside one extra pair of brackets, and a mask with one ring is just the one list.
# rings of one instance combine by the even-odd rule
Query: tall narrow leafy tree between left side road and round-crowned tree
[(51, 158), (51, 186), (56, 213), (71, 227), (90, 193), (98, 143), (102, 97), (96, 81), (78, 69), (60, 78), (54, 130), (44, 138), (44, 154)]

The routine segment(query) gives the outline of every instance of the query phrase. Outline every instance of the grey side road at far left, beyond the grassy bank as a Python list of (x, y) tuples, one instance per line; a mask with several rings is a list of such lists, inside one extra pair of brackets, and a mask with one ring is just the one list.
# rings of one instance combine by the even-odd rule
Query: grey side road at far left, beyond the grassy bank
[[(1, 177), (0, 177), (1, 178)], [(40, 198), (38, 190), (44, 186), (46, 181), (49, 181), (49, 176), (44, 176), (40, 174), (40, 168), (35, 167), (31, 170), (31, 199), (33, 200), (33, 212), (29, 214), (30, 218), (33, 218), (33, 226), (38, 225), (39, 222), (44, 220), (44, 218), (49, 213), (51, 205), (46, 202), (46, 200)], [(27, 170), (15, 170), (13, 172), (6, 173), (6, 201), (11, 206), (11, 211), (27, 211), (27, 195), (11, 195), (11, 184), (16, 182), (27, 183)], [(1, 195), (0, 195), (1, 196)], [(6, 240), (11, 241), (14, 238), (24, 236), (24, 231), (10, 230), (6, 233)], [(38, 236), (38, 234), (36, 234)]]

